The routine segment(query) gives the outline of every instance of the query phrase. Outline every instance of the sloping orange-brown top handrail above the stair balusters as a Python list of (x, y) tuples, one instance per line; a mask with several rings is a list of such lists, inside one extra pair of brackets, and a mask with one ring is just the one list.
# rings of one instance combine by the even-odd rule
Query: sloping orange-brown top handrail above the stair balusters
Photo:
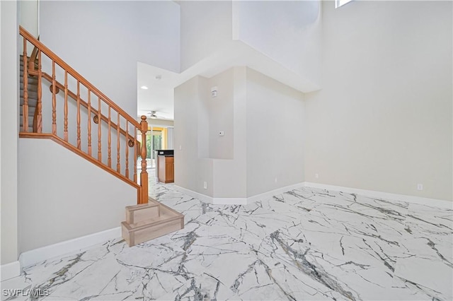
[(31, 35), (30, 33), (28, 33), (28, 31), (25, 30), (25, 28), (23, 28), (21, 25), (19, 25), (19, 33), (21, 33), (21, 35), (23, 37), (25, 37), (25, 39), (27, 39), (28, 42), (32, 43), (35, 47), (38, 47), (38, 49), (40, 49), (40, 51), (42, 53), (46, 54), (47, 57), (52, 59), (52, 61), (55, 61), (55, 63), (58, 66), (62, 67), (62, 69), (64, 69), (64, 70), (68, 71), (68, 73), (70, 73), (71, 76), (73, 76), (76, 79), (76, 81), (80, 81), (80, 83), (85, 85), (85, 87), (88, 88), (88, 90), (91, 90), (91, 92), (93, 92), (96, 95), (98, 95), (99, 97), (101, 97), (104, 102), (106, 102), (108, 105), (110, 105), (110, 107), (112, 107), (112, 109), (119, 112), (122, 115), (122, 117), (125, 117), (127, 119), (127, 121), (129, 121), (131, 124), (134, 124), (134, 126), (137, 127), (137, 129), (140, 129), (141, 126), (140, 126), (139, 122), (137, 122), (137, 120), (135, 120), (132, 116), (130, 116), (130, 114), (127, 114), (127, 112), (125, 112), (120, 107), (118, 107), (115, 104), (115, 102), (113, 102), (112, 100), (110, 100), (110, 98), (105, 96), (105, 94), (102, 93), (101, 90), (99, 90), (93, 84), (91, 84), (89, 81), (87, 81), (86, 78), (84, 78), (84, 76), (81, 76), (79, 74), (79, 72), (72, 69), (71, 66), (69, 66), (65, 61), (60, 59), (57, 56), (57, 54), (52, 52), (52, 50), (47, 48), (44, 44), (42, 44), (42, 42), (36, 40), (36, 38), (33, 37), (33, 35)]

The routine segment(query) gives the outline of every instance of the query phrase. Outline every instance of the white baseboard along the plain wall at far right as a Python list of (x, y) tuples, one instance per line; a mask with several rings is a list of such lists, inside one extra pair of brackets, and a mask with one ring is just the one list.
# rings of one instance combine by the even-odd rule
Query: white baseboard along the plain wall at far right
[(336, 190), (336, 191), (346, 192), (348, 194), (361, 194), (362, 196), (369, 196), (372, 198), (389, 199), (389, 200), (394, 200), (394, 201), (406, 201), (408, 203), (418, 203), (420, 205), (453, 209), (453, 202), (447, 201), (447, 200), (428, 199), (428, 198), (423, 198), (420, 196), (408, 196), (406, 194), (391, 194), (391, 193), (382, 192), (382, 191), (357, 189), (357, 188), (351, 188), (351, 187), (341, 187), (341, 186), (334, 186), (334, 185), (313, 183), (313, 182), (304, 182), (303, 184), (304, 184), (304, 187)]

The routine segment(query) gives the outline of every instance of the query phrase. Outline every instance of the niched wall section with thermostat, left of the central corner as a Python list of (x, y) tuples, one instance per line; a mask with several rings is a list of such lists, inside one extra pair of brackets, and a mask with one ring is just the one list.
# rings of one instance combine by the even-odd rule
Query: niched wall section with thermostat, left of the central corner
[[(243, 76), (239, 76), (241, 73)], [(242, 89), (236, 89), (238, 80)], [(210, 97), (212, 85), (219, 88), (218, 99)], [(242, 129), (245, 103), (245, 67), (232, 68), (209, 79), (197, 76), (175, 88), (177, 186), (219, 198), (246, 197), (246, 140)], [(224, 105), (229, 110), (224, 112), (228, 120), (222, 120), (222, 110), (219, 110)], [(221, 125), (225, 136), (219, 139), (217, 131)], [(230, 158), (222, 159), (225, 153), (217, 144), (226, 148)], [(203, 188), (204, 182), (207, 189)]]

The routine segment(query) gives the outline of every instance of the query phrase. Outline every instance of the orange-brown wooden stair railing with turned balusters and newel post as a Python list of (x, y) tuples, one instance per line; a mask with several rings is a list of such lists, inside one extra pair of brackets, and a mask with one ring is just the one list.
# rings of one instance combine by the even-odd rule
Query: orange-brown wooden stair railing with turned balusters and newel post
[[(147, 163), (146, 163), (146, 156), (147, 156), (147, 149), (146, 143), (140, 143), (137, 140), (137, 131), (140, 131), (142, 134), (142, 141), (146, 141), (147, 139), (147, 131), (148, 131), (148, 123), (147, 117), (142, 116), (142, 121), (137, 122), (136, 119), (131, 117), (127, 114), (124, 110), (122, 110), (119, 106), (115, 104), (110, 98), (105, 96), (98, 88), (92, 85), (90, 82), (86, 80), (83, 76), (81, 76), (77, 71), (71, 68), (66, 62), (60, 59), (54, 52), (52, 52), (49, 48), (43, 45), (39, 40), (36, 40), (33, 35), (30, 35), (27, 30), (20, 26), (19, 29), (20, 35), (23, 37), (24, 43), (24, 51), (23, 51), (23, 66), (24, 66), (24, 104), (23, 112), (27, 113), (28, 109), (28, 76), (36, 76), (38, 78), (38, 102), (35, 109), (35, 117), (33, 118), (33, 133), (28, 132), (28, 114), (25, 114), (23, 118), (24, 126), (23, 131), (19, 134), (21, 137), (25, 138), (50, 138), (53, 141), (61, 144), (62, 146), (68, 148), (69, 150), (81, 155), (82, 157), (89, 160), (91, 163), (98, 165), (99, 167), (103, 168), (104, 170), (110, 172), (115, 177), (124, 180), (128, 184), (132, 184), (132, 186), (137, 188), (137, 203), (147, 203), (148, 201), (148, 173), (147, 173)], [(26, 47), (27, 42), (30, 42), (31, 45), (34, 45), (33, 52), (31, 54), (30, 59), (27, 57)], [(47, 72), (51, 72), (52, 74), (46, 73), (42, 70), (42, 54), (45, 55), (45, 59), (50, 59), (51, 71), (47, 71), (47, 65), (45, 67)], [(38, 63), (38, 64), (36, 64)], [(56, 78), (56, 65), (62, 68), (64, 71), (64, 84), (57, 81)], [(68, 74), (77, 83), (77, 93), (72, 92), (68, 89)], [(47, 114), (51, 114), (51, 121), (52, 121), (52, 133), (41, 133), (42, 131), (42, 78), (50, 83), (50, 92), (52, 93), (52, 110), (51, 113), (45, 113), (46, 118), (48, 117)], [(81, 87), (82, 85), (82, 87)], [(88, 102), (81, 99), (81, 88), (86, 89), (88, 91)], [(62, 113), (57, 106), (57, 93), (59, 90), (64, 90), (64, 108)], [(97, 101), (93, 100), (95, 103), (97, 102), (97, 108), (93, 106), (93, 102), (91, 102), (91, 95), (96, 95)], [(68, 139), (68, 96), (72, 100), (76, 102), (76, 144), (72, 144), (69, 142)], [(95, 98), (95, 99), (96, 99)], [(45, 100), (48, 101), (48, 100)], [(82, 131), (81, 131), (81, 109), (80, 107), (84, 107), (88, 112), (88, 132), (86, 134), (86, 138), (88, 139), (88, 151), (82, 151)], [(101, 113), (101, 109), (103, 110), (104, 107), (108, 107), (108, 117), (105, 116), (106, 114)], [(113, 116), (110, 114), (111, 110), (113, 110)], [(93, 113), (93, 122), (98, 124), (98, 135), (97, 135), (97, 144), (98, 144), (98, 152), (97, 158), (95, 158), (92, 154), (92, 141), (91, 141), (91, 113)], [(63, 117), (59, 114), (63, 114)], [(116, 116), (115, 116), (116, 114)], [(73, 115), (73, 113), (71, 113)], [(111, 117), (116, 117), (116, 123), (112, 121)], [(59, 121), (60, 118), (63, 122)], [(124, 118), (124, 119), (122, 119)], [(57, 120), (58, 119), (58, 120)], [(47, 118), (48, 120), (48, 118)], [(125, 122), (125, 129), (122, 129), (122, 122)], [(105, 148), (102, 148), (102, 139), (101, 137), (105, 135), (101, 129), (101, 122), (105, 122), (108, 124), (108, 164), (103, 163), (102, 160), (102, 153), (105, 151)], [(62, 124), (64, 126), (63, 131), (63, 138), (59, 137), (57, 134), (58, 124)], [(132, 125), (133, 128), (133, 136), (130, 134), (130, 127)], [(61, 125), (60, 125), (61, 126)], [(111, 158), (110, 158), (110, 150), (111, 150), (111, 129), (116, 130), (116, 169), (112, 168)], [(84, 134), (85, 136), (85, 134)], [(125, 138), (125, 144), (122, 144), (122, 137)], [(85, 139), (85, 138), (84, 138)], [(121, 147), (125, 147), (124, 153), (120, 151)], [(134, 156), (132, 158), (134, 162), (134, 175), (132, 181), (129, 176), (129, 148), (134, 147)], [(137, 184), (137, 158), (138, 156), (142, 157), (142, 171), (140, 172), (140, 184)], [(122, 159), (124, 158), (124, 159)]]

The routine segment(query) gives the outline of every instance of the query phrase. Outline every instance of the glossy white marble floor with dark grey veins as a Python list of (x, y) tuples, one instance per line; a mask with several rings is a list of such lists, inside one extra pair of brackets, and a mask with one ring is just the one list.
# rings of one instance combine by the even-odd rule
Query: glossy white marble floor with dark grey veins
[(32, 300), (453, 300), (452, 210), (308, 187), (219, 206), (153, 187), (183, 230), (29, 266), (2, 288), (49, 293)]

